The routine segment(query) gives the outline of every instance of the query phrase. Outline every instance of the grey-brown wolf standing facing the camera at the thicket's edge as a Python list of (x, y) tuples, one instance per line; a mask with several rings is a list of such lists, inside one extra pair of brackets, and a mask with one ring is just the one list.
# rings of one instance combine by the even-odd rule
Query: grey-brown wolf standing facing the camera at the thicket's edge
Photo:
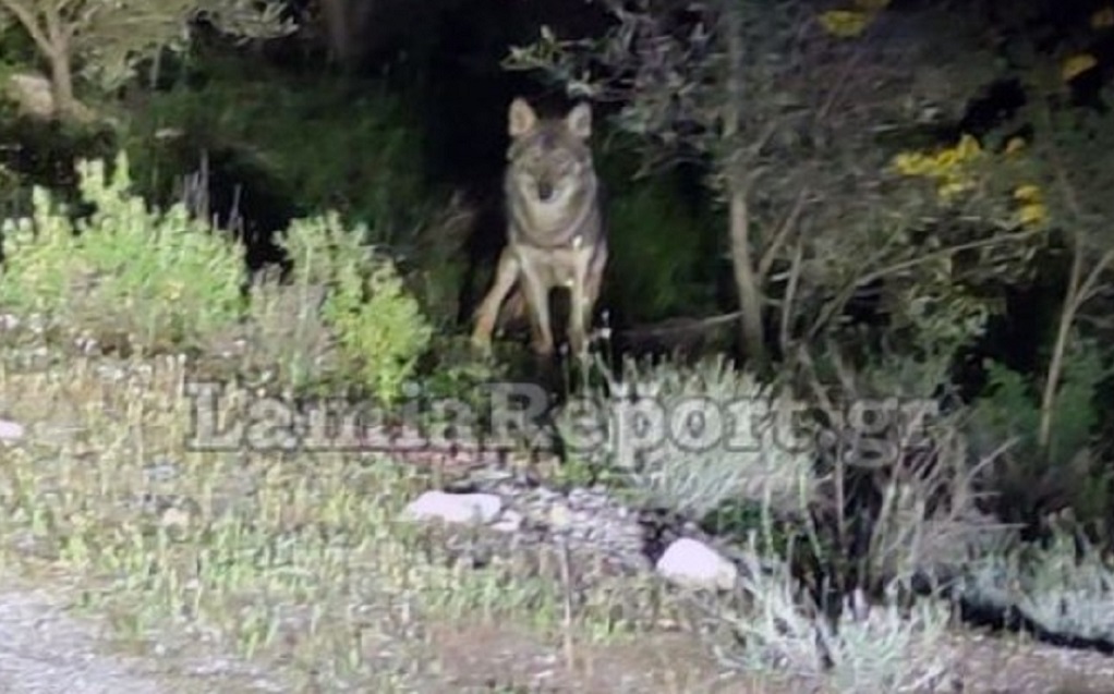
[(574, 106), (564, 118), (539, 118), (518, 97), (508, 113), (510, 145), (504, 175), (507, 242), (495, 280), (476, 311), (472, 343), (490, 350), (491, 332), (504, 301), (525, 303), (530, 348), (541, 358), (554, 353), (549, 295), (567, 287), (571, 301), (569, 346), (585, 356), (588, 328), (607, 266), (603, 186), (592, 153), (592, 108)]

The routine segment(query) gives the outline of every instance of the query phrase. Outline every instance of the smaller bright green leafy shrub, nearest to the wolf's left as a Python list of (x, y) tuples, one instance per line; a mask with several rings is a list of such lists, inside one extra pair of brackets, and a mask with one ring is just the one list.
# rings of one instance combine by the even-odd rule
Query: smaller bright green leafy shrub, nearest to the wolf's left
[[(294, 258), (294, 285), (335, 340), (341, 369), (352, 369), (372, 395), (391, 402), (413, 374), (432, 328), (390, 257), (361, 243), (336, 213), (295, 219), (281, 242)], [(345, 371), (348, 373), (348, 371)]]

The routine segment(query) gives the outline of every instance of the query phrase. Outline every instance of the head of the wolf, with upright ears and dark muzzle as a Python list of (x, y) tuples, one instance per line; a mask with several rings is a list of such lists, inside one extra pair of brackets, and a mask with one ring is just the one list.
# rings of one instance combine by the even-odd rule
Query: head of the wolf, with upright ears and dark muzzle
[(508, 131), (508, 183), (529, 204), (566, 207), (595, 184), (587, 104), (564, 118), (540, 119), (525, 99), (515, 99)]

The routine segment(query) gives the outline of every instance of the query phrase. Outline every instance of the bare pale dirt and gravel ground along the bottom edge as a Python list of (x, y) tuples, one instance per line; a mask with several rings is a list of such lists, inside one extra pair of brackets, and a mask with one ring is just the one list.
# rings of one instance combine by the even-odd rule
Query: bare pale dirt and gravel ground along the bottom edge
[[(234, 657), (125, 655), (95, 619), (67, 613), (66, 588), (0, 586), (0, 692), (11, 694), (201, 694), (295, 692)], [(413, 680), (423, 694), (803, 693), (800, 684), (725, 674), (687, 634), (606, 646), (551, 644), (498, 626), (431, 625), (432, 666)], [(965, 694), (1114, 694), (1114, 657), (974, 632), (955, 635)], [(569, 666), (571, 664), (571, 666)], [(866, 693), (864, 693), (866, 694)]]

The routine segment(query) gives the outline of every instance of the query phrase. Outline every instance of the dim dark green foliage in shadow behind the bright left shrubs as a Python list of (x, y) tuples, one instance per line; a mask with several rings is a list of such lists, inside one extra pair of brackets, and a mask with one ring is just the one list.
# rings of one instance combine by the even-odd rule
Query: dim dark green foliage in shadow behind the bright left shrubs
[(391, 248), (430, 319), (455, 322), (473, 212), (428, 180), (408, 97), (234, 57), (199, 66), (204, 79), (147, 95), (125, 133), (152, 195), (177, 197), (178, 175), (205, 151), (215, 205), (264, 232), (331, 211), (362, 223), (362, 241)]

